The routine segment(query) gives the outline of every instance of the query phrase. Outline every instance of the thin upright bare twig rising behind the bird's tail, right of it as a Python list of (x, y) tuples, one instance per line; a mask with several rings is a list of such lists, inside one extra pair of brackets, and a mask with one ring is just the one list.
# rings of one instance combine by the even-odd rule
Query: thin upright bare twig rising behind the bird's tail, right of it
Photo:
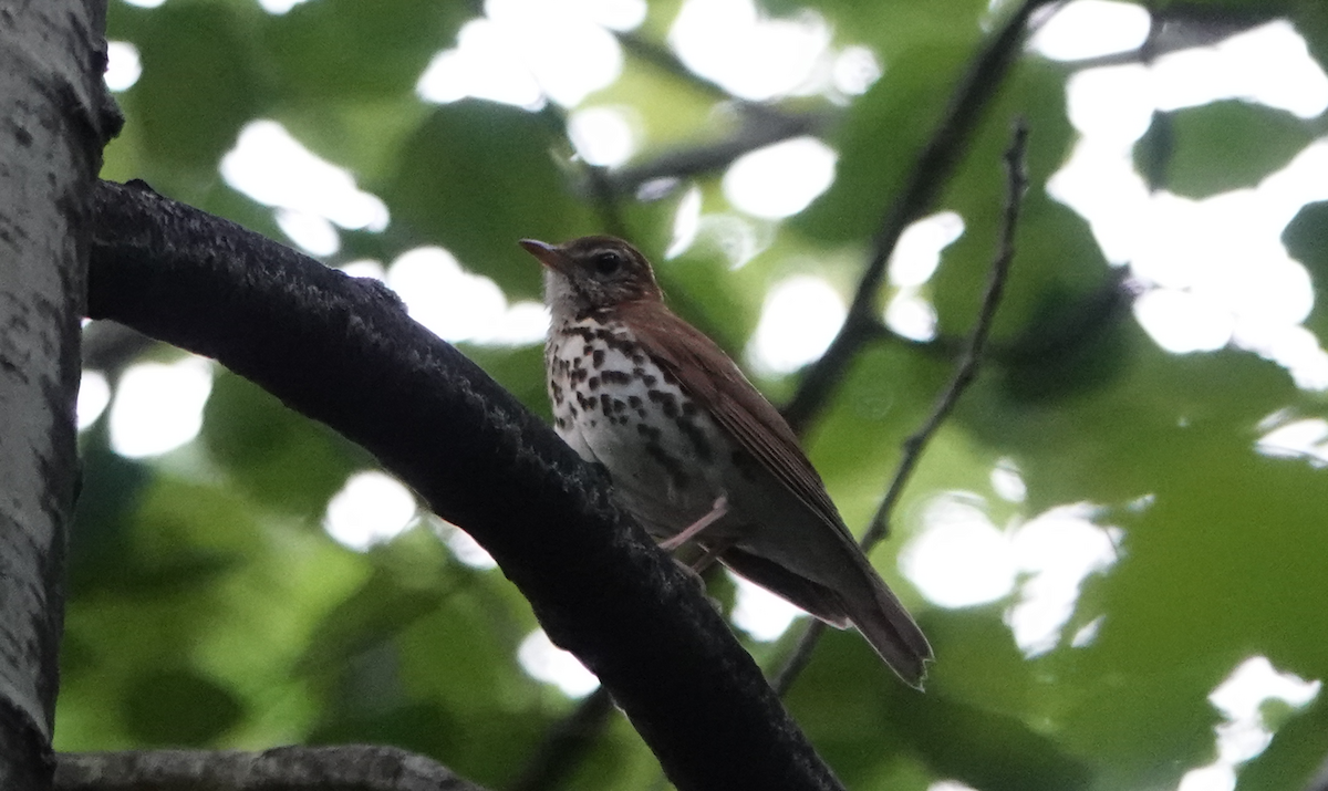
[[(903, 494), (904, 486), (918, 467), (918, 461), (922, 458), (927, 442), (946, 418), (950, 417), (950, 413), (955, 409), (955, 403), (959, 402), (959, 397), (977, 376), (983, 349), (987, 345), (987, 337), (991, 334), (992, 320), (1005, 292), (1009, 265), (1015, 260), (1015, 231), (1019, 227), (1019, 214), (1023, 207), (1024, 191), (1028, 188), (1028, 173), (1024, 163), (1027, 147), (1028, 126), (1020, 118), (1015, 122), (1013, 137), (1009, 147), (1005, 150), (1005, 167), (1008, 173), (1005, 218), (1001, 227), (1000, 250), (992, 261), (991, 272), (987, 277), (987, 291), (983, 293), (977, 320), (973, 323), (973, 329), (969, 332), (968, 342), (964, 346), (959, 366), (955, 369), (955, 376), (951, 378), (950, 385), (942, 390), (935, 406), (932, 406), (931, 414), (923, 421), (922, 426), (903, 441), (903, 455), (899, 459), (899, 466), (895, 468), (890, 487), (886, 490), (886, 496), (880, 500), (880, 506), (876, 508), (867, 532), (862, 536), (861, 544), (863, 552), (871, 552), (871, 548), (886, 538), (890, 530), (890, 514), (894, 511), (895, 503), (899, 502), (899, 495)], [(825, 625), (821, 621), (815, 621), (802, 633), (793, 654), (789, 656), (774, 677), (772, 686), (777, 693), (781, 695), (786, 693), (802, 673), (823, 632)]]

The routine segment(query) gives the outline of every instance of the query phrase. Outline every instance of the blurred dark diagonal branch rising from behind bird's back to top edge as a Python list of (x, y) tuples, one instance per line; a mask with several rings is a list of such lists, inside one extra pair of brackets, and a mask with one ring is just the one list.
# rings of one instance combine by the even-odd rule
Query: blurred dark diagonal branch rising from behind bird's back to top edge
[(843, 378), (858, 350), (871, 338), (876, 293), (880, 291), (886, 264), (895, 251), (895, 244), (899, 243), (900, 234), (927, 212), (940, 195), (955, 165), (963, 157), (983, 110), (991, 104), (1004, 84), (1011, 65), (1019, 57), (1029, 19), (1038, 8), (1054, 1), (1060, 0), (1024, 0), (968, 65), (968, 70), (950, 98), (950, 106), (914, 162), (903, 190), (882, 219), (880, 228), (872, 239), (871, 260), (858, 283), (843, 326), (839, 328), (826, 353), (802, 377), (798, 390), (784, 409), (784, 417), (795, 431), (801, 433), (821, 410), (830, 397), (830, 390)]

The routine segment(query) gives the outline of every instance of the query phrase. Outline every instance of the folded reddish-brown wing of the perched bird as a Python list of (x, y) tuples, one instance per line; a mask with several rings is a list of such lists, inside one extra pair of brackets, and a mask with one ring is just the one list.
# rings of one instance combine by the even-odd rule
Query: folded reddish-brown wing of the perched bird
[(661, 303), (619, 305), (645, 352), (766, 471), (845, 540), (853, 535), (793, 429), (728, 354)]

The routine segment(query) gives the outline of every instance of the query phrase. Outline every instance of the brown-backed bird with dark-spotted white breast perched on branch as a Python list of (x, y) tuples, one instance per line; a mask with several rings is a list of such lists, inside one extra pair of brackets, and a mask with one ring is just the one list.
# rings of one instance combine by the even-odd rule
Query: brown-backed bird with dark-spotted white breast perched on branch
[(845, 526), (780, 411), (664, 304), (649, 261), (615, 236), (519, 242), (544, 269), (554, 429), (607, 470), (660, 545), (695, 541), (817, 618), (855, 626), (922, 689), (932, 649)]

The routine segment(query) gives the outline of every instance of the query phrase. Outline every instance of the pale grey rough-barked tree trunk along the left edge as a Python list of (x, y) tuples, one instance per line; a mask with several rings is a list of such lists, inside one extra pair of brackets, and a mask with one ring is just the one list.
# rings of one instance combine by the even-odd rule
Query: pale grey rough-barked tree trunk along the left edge
[(96, 0), (0, 4), (0, 788), (46, 788), (89, 200), (117, 127)]

